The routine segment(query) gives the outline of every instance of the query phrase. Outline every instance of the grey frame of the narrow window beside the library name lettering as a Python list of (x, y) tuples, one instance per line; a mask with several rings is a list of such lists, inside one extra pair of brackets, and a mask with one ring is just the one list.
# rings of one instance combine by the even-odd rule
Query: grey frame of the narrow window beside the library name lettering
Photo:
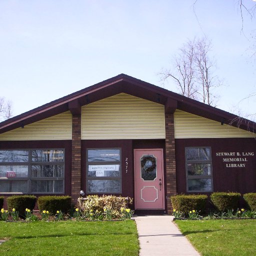
[[(209, 159), (207, 160), (187, 160), (186, 149), (187, 148), (209, 148)], [(188, 163), (208, 163), (210, 164), (210, 175), (188, 175)], [(211, 147), (210, 146), (186, 146), (185, 147), (185, 172), (186, 172), (186, 192), (188, 193), (211, 193), (213, 192), (213, 175), (212, 175), (212, 156), (211, 156)], [(211, 189), (210, 190), (188, 190), (188, 179), (201, 179), (208, 178), (211, 180)]]

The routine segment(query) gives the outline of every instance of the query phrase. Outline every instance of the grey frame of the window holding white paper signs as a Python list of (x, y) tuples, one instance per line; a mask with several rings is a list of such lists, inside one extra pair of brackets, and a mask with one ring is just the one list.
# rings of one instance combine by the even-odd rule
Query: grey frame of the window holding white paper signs
[[(97, 149), (97, 150), (104, 150), (104, 149), (118, 149), (120, 153), (120, 160), (119, 161), (88, 161), (88, 150)], [(122, 193), (122, 155), (121, 155), (121, 147), (93, 147), (93, 148), (86, 148), (86, 194), (121, 194)], [(88, 176), (88, 165), (107, 165), (107, 164), (119, 164), (120, 165), (120, 175), (119, 177), (107, 177), (107, 176), (95, 176), (91, 177)], [(104, 192), (90, 192), (88, 191), (88, 180), (119, 180), (120, 181), (120, 190), (118, 192), (111, 192), (111, 191), (104, 191)]]

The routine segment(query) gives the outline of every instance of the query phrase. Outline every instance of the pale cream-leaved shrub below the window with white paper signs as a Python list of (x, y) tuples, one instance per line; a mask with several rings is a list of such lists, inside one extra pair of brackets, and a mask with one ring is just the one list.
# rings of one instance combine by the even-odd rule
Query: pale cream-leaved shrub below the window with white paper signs
[[(89, 212), (94, 214), (111, 215), (111, 218), (121, 218), (121, 209), (127, 208), (127, 204), (132, 202), (130, 197), (114, 195), (88, 195), (82, 200), (78, 198), (78, 208), (84, 215)], [(127, 210), (127, 209), (126, 209)], [(107, 217), (108, 218), (108, 217)], [(110, 218), (110, 216), (109, 216)]]

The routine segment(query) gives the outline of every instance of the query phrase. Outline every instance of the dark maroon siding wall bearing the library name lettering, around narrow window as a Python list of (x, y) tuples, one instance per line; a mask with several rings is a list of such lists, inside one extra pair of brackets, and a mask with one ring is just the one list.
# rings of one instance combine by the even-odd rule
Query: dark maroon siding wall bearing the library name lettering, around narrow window
[[(207, 138), (175, 139), (177, 193), (186, 193), (185, 147), (210, 146), (212, 154), (213, 191), (256, 192), (256, 139)], [(234, 152), (235, 156), (217, 156), (218, 152)], [(254, 152), (253, 156), (242, 153)], [(237, 156), (237, 153), (240, 155)], [(228, 161), (223, 158), (246, 158), (247, 161)], [(226, 164), (245, 163), (245, 167), (226, 167)]]

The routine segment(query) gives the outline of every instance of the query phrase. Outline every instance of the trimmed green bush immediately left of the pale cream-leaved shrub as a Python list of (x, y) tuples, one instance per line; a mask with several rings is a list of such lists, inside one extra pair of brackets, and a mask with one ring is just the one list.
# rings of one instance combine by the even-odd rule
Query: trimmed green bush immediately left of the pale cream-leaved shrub
[(40, 212), (48, 210), (51, 215), (56, 214), (57, 210), (67, 213), (71, 208), (71, 196), (46, 195), (37, 198), (37, 204)]

